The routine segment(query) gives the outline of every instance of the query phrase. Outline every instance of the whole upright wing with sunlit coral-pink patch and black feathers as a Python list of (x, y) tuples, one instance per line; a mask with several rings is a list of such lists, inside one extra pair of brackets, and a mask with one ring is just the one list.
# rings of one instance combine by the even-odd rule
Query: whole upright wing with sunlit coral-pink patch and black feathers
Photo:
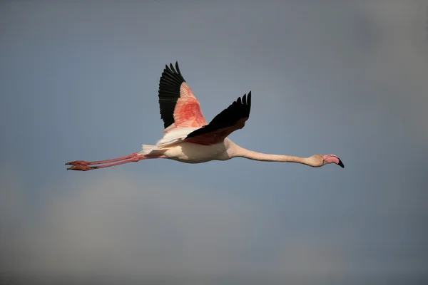
[(198, 99), (185, 82), (178, 62), (165, 66), (159, 82), (159, 107), (165, 133), (174, 128), (200, 128), (207, 125)]

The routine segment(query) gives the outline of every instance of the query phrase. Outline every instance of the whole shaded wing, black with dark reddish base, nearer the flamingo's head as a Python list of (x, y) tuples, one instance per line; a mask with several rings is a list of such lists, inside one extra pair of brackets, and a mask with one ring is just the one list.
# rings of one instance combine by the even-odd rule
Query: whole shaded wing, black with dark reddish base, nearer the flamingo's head
[(245, 121), (250, 117), (250, 109), (251, 91), (248, 96), (243, 95), (242, 100), (238, 98), (227, 109), (216, 115), (208, 125), (188, 134), (185, 141), (199, 145), (214, 145), (222, 142), (230, 133), (244, 128)]

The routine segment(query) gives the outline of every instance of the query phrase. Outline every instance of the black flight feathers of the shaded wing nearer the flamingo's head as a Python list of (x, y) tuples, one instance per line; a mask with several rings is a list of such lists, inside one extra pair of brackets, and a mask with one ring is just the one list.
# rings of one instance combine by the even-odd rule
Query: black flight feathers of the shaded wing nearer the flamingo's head
[[(216, 115), (208, 125), (194, 130), (188, 134), (186, 138), (193, 138), (197, 135), (205, 135), (207, 133), (213, 133), (217, 130), (232, 127), (238, 123), (241, 119), (248, 119), (250, 117), (251, 109), (251, 91), (248, 95), (243, 95), (243, 98), (239, 97), (238, 100), (232, 103), (227, 109), (223, 110), (220, 114)], [(242, 128), (242, 127), (241, 127)]]

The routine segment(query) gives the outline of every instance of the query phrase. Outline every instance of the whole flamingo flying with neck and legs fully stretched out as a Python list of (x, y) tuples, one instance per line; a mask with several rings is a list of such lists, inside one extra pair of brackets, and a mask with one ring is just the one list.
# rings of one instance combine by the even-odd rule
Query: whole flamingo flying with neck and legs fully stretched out
[(159, 106), (164, 125), (163, 138), (156, 145), (143, 145), (143, 150), (111, 160), (67, 162), (67, 170), (96, 170), (152, 158), (167, 158), (178, 162), (201, 163), (245, 157), (270, 162), (296, 162), (310, 167), (330, 163), (345, 167), (337, 155), (270, 155), (247, 150), (236, 145), (228, 136), (242, 129), (250, 116), (251, 91), (238, 98), (228, 108), (207, 123), (200, 103), (183, 78), (178, 62), (165, 65), (159, 83)]

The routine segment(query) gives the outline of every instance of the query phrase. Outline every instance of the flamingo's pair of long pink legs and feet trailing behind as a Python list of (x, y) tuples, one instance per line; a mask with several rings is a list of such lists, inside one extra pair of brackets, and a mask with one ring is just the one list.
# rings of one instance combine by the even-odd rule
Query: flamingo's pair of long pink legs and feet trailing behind
[[(87, 170), (94, 170), (98, 168), (123, 165), (128, 162), (138, 162), (140, 160), (146, 160), (148, 158), (166, 158), (166, 156), (165, 155), (156, 155), (156, 156), (137, 155), (137, 152), (134, 152), (131, 155), (113, 158), (112, 160), (99, 160), (99, 161), (92, 161), (92, 162), (88, 162), (84, 160), (76, 160), (73, 162), (67, 162), (66, 165), (73, 165), (72, 167), (68, 167), (67, 170), (87, 171)], [(105, 164), (106, 162), (113, 162), (113, 163)], [(98, 164), (103, 164), (103, 165), (98, 165)], [(91, 165), (98, 165), (98, 166), (91, 166)]]

